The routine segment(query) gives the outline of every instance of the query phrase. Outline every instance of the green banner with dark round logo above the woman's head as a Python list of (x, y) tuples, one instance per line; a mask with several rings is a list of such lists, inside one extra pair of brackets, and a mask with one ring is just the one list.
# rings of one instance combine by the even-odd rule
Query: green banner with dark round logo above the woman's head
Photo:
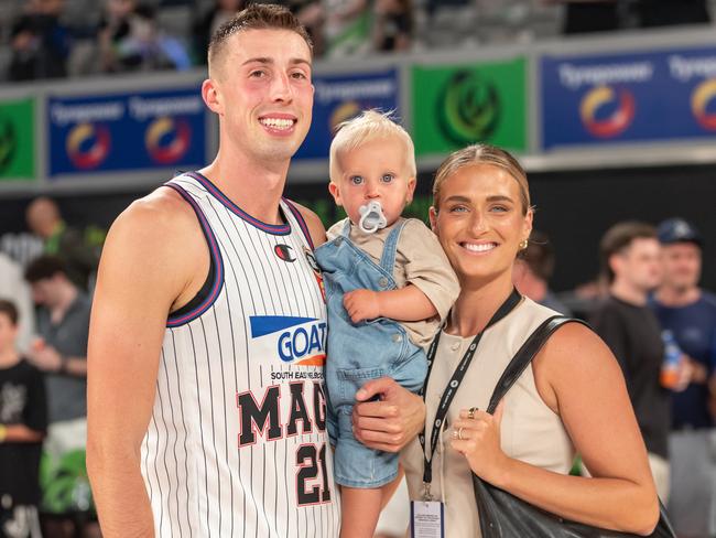
[(417, 155), (475, 142), (527, 150), (527, 61), (422, 66), (412, 71)]

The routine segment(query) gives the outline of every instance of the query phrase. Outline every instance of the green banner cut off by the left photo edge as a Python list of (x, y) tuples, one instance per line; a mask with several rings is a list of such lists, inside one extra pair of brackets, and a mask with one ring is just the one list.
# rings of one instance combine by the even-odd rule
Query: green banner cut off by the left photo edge
[(35, 177), (35, 100), (0, 101), (0, 181)]

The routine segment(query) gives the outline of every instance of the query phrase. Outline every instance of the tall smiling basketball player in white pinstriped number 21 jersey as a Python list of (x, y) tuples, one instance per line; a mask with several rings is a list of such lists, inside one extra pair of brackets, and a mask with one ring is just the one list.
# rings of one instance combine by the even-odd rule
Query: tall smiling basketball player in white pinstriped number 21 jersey
[(337, 536), (325, 232), (281, 198), (311, 123), (311, 44), (288, 10), (254, 4), (215, 33), (208, 69), (216, 159), (133, 203), (105, 244), (88, 389), (102, 534)]

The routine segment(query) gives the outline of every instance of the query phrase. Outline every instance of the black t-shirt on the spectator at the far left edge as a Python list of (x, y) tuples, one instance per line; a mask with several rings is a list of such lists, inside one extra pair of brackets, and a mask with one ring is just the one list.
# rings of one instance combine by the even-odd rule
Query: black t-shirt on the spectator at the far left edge
[[(0, 368), (0, 423), (24, 424), (31, 430), (47, 428), (45, 381), (26, 361)], [(40, 503), (40, 453), (42, 442), (0, 443), (0, 502), (11, 506)]]

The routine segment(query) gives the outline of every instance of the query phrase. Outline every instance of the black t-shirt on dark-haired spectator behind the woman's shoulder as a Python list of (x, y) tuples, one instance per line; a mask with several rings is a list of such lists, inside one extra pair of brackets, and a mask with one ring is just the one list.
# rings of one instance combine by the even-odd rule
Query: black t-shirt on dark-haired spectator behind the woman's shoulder
[(664, 345), (657, 316), (646, 305), (609, 297), (590, 322), (619, 361), (647, 450), (666, 459), (671, 400), (659, 381)]

